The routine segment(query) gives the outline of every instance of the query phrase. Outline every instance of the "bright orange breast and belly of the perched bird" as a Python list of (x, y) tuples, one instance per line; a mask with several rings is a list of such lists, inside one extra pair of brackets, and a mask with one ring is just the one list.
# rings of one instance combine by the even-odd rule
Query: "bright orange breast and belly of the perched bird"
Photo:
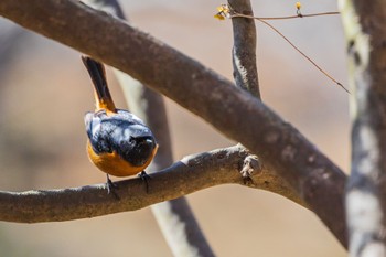
[(93, 147), (87, 142), (87, 152), (90, 161), (99, 168), (103, 172), (115, 175), (115, 176), (129, 176), (138, 174), (143, 171), (154, 158), (158, 150), (158, 146), (152, 151), (152, 154), (149, 157), (148, 161), (140, 167), (132, 165), (130, 162), (124, 160), (118, 153), (100, 153), (97, 154), (93, 151)]

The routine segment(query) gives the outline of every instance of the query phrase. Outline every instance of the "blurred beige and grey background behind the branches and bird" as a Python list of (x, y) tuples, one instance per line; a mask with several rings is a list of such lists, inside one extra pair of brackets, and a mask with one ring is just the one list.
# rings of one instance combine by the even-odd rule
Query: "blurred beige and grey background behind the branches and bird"
[[(141, 30), (232, 79), (232, 24), (213, 18), (222, 1), (121, 1)], [(294, 1), (254, 0), (260, 17), (294, 14)], [(336, 1), (302, 1), (302, 12)], [(71, 15), (71, 13), (69, 13)], [(347, 86), (340, 17), (271, 22)], [(262, 99), (347, 171), (349, 95), (276, 33), (257, 23)], [(96, 42), (97, 43), (97, 42)], [(117, 106), (126, 103), (108, 72)], [(167, 100), (175, 160), (232, 146), (200, 118)], [(104, 183), (88, 161), (83, 115), (94, 108), (79, 53), (0, 19), (0, 189), (25, 191)], [(187, 196), (218, 256), (345, 256), (314, 214), (269, 192), (222, 185)], [(0, 256), (171, 256), (150, 208), (43, 224), (0, 222)]]

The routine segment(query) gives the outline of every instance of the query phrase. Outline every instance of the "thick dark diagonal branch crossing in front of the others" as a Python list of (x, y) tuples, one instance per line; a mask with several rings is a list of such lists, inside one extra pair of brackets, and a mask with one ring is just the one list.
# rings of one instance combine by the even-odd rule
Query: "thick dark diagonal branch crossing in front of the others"
[[(346, 176), (249, 94), (149, 34), (73, 0), (2, 0), (0, 14), (130, 74), (242, 142), (346, 244), (342, 197)], [(181, 188), (173, 190), (175, 196)], [(281, 190), (272, 189), (288, 196)]]

